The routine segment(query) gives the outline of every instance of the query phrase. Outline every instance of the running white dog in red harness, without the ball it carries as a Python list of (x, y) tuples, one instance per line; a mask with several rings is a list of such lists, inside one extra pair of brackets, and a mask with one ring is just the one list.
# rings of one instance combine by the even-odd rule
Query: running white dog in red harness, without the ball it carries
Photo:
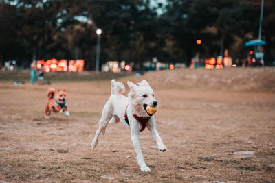
[(157, 141), (157, 148), (160, 151), (166, 151), (167, 148), (162, 143), (162, 138), (160, 138), (155, 128), (155, 119), (152, 114), (146, 111), (147, 105), (155, 107), (157, 106), (157, 101), (155, 100), (153, 89), (146, 80), (142, 80), (139, 86), (129, 81), (127, 84), (130, 92), (128, 93), (128, 97), (125, 97), (122, 95), (125, 92), (124, 85), (120, 82), (115, 82), (115, 80), (111, 81), (111, 96), (103, 108), (99, 128), (96, 131), (91, 147), (96, 148), (98, 136), (101, 132), (102, 134), (105, 133), (108, 123), (122, 121), (131, 130), (131, 140), (137, 153), (137, 162), (140, 165), (141, 171), (151, 171), (144, 162), (139, 137), (140, 132), (147, 127), (151, 131), (155, 141)]

